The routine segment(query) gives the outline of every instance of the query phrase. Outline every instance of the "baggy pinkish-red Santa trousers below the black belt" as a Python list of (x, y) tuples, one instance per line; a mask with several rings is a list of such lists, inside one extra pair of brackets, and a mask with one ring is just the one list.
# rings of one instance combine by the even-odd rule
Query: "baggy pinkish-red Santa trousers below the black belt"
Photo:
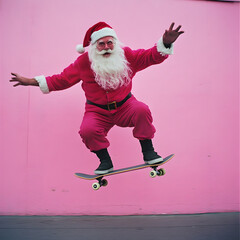
[(139, 140), (152, 139), (156, 131), (152, 121), (149, 107), (134, 96), (111, 111), (86, 104), (79, 134), (90, 151), (98, 151), (109, 147), (107, 133), (115, 125), (133, 127), (133, 136)]

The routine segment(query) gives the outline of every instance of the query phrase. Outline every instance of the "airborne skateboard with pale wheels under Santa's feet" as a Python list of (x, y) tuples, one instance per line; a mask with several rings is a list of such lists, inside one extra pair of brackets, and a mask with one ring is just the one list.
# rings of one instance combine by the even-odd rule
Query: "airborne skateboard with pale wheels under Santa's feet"
[(132, 167), (113, 170), (112, 172), (109, 172), (109, 173), (106, 173), (106, 174), (89, 175), (89, 174), (85, 174), (85, 173), (75, 173), (75, 176), (77, 176), (79, 178), (82, 178), (82, 179), (86, 179), (86, 180), (95, 180), (96, 179), (98, 182), (93, 183), (92, 188), (94, 190), (98, 190), (100, 187), (102, 187), (102, 186), (105, 187), (105, 186), (108, 185), (108, 181), (106, 179), (104, 179), (104, 177), (119, 174), (119, 173), (130, 172), (130, 171), (135, 171), (135, 170), (151, 167), (152, 171), (150, 172), (150, 176), (152, 178), (156, 177), (156, 176), (163, 176), (166, 173), (166, 171), (163, 168), (160, 168), (160, 169), (157, 169), (157, 168), (159, 166), (167, 163), (173, 157), (174, 157), (174, 154), (171, 154), (171, 155), (165, 157), (163, 159), (163, 161), (159, 162), (159, 163), (155, 163), (155, 164), (144, 163), (144, 164), (140, 164), (140, 165), (137, 165), (137, 166), (132, 166)]

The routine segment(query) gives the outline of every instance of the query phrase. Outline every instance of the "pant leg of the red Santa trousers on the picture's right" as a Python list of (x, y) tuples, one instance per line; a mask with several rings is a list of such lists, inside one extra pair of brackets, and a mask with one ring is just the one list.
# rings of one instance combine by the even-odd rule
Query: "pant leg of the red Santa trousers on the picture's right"
[(133, 127), (133, 136), (139, 140), (152, 139), (156, 132), (149, 107), (132, 96), (115, 115), (120, 127)]

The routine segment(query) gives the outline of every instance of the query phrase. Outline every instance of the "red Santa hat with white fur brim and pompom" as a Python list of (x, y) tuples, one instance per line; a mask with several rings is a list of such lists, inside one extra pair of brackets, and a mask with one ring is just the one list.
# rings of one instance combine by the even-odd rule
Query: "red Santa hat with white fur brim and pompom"
[(79, 53), (84, 53), (85, 47), (89, 46), (90, 43), (93, 44), (100, 38), (108, 37), (108, 36), (114, 37), (115, 39), (117, 39), (117, 35), (115, 31), (107, 23), (105, 22), (96, 23), (95, 25), (93, 25), (88, 29), (84, 37), (83, 44), (78, 44), (76, 46), (76, 50)]

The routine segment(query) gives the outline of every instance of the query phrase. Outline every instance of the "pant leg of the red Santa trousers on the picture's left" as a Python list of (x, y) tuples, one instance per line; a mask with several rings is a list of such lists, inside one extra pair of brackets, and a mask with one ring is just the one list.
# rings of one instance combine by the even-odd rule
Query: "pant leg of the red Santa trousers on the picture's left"
[(109, 147), (106, 136), (113, 126), (106, 110), (87, 104), (79, 134), (90, 151), (98, 151)]

